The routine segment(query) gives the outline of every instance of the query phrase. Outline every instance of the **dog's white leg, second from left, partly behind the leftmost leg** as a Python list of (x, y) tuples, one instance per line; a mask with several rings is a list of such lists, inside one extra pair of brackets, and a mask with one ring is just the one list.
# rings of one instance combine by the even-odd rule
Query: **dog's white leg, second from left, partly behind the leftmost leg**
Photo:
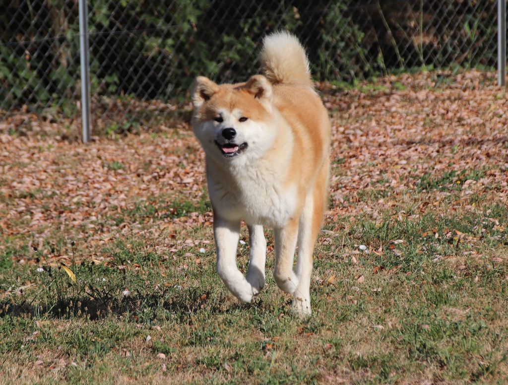
[(249, 282), (258, 294), (265, 285), (266, 239), (263, 226), (254, 224), (249, 229), (250, 261), (247, 272)]

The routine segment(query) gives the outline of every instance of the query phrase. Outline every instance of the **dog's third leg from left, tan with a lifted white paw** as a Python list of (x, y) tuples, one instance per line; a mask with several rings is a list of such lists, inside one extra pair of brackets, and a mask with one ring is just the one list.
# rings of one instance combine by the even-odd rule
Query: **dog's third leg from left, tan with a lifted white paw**
[(298, 278), (293, 272), (296, 240), (298, 237), (298, 218), (292, 218), (283, 228), (274, 229), (275, 269), (273, 278), (280, 290), (293, 294), (298, 287)]

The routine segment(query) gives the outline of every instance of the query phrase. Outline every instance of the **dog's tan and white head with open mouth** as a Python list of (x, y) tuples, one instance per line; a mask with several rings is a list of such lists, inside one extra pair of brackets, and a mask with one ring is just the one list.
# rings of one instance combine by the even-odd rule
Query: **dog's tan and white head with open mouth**
[(193, 129), (206, 154), (220, 162), (242, 164), (262, 157), (276, 135), (272, 97), (272, 85), (262, 75), (221, 85), (198, 77)]

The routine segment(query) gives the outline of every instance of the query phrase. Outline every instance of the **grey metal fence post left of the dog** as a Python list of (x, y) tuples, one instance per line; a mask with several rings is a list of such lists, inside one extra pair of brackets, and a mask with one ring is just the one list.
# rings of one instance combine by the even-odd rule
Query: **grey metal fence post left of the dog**
[(83, 143), (90, 140), (90, 60), (88, 58), (88, 4), (79, 0), (79, 51), (81, 59), (81, 121)]

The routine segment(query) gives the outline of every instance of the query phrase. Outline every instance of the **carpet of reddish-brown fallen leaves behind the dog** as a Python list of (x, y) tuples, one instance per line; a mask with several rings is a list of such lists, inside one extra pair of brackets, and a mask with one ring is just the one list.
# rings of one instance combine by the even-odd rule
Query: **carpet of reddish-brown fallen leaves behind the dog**
[[(446, 87), (437, 82), (444, 75), (450, 79)], [(471, 194), (506, 203), (508, 95), (495, 85), (492, 73), (444, 75), (386, 77), (370, 91), (323, 86), (332, 117), (329, 223), (344, 215), (354, 221), (363, 213), (375, 219), (393, 211), (400, 220), (420, 215), (401, 210), (401, 192), (416, 190), (418, 181), (431, 171), (457, 172), (450, 178), (459, 186), (460, 198), (452, 202), (452, 210), (473, 209), (467, 200)], [(87, 250), (80, 258), (98, 263), (108, 260), (101, 247), (118, 236), (151, 240), (147, 247), (169, 254), (210, 242), (186, 244), (174, 239), (180, 229), (209, 226), (212, 221), (209, 209), (176, 215), (172, 206), (183, 198), (195, 203), (207, 199), (204, 155), (187, 124), (157, 130), (156, 135), (141, 130), (140, 135), (98, 138), (84, 145), (45, 135), (58, 130), (54, 120), (35, 119), (24, 135), (9, 134), (21, 120), (0, 124), (0, 234), (4, 238), (42, 250), (45, 240), (58, 234), (80, 242)], [(44, 124), (51, 127), (45, 131)], [(478, 180), (460, 179), (461, 171), (480, 169)], [(362, 191), (371, 188), (390, 193), (363, 201)], [(432, 191), (421, 213), (436, 210), (448, 195)], [(450, 236), (456, 236), (457, 242), (464, 238), (452, 231)], [(394, 244), (402, 242), (394, 240)], [(367, 251), (368, 245), (364, 247)], [(374, 253), (380, 255), (383, 249)], [(13, 256), (17, 261), (26, 257)], [(68, 263), (70, 251), (57, 250), (53, 259)]]

